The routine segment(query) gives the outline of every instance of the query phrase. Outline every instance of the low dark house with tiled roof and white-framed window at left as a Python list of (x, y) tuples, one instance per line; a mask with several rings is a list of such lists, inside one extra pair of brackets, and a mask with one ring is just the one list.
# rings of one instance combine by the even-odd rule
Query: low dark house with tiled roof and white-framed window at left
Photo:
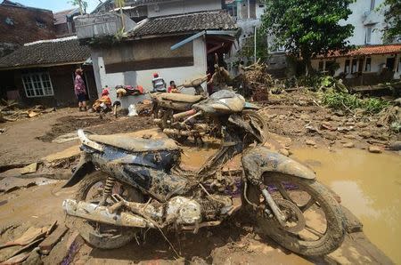
[[(89, 57), (89, 48), (76, 36), (24, 44), (0, 58), (0, 76), (11, 80), (0, 85), (1, 98), (24, 105), (75, 105), (74, 72)], [(88, 100), (97, 99), (92, 66), (84, 71)]]

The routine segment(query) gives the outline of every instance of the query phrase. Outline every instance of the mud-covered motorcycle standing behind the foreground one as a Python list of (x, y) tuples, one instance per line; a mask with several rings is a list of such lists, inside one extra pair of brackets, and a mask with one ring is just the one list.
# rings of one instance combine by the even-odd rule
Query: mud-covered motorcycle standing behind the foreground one
[[(206, 79), (196, 79), (185, 87), (201, 87), (201, 82)], [(202, 88), (198, 89), (201, 90)], [(232, 94), (230, 91), (219, 91), (211, 95), (212, 100), (225, 97), (225, 94)], [(241, 97), (241, 95), (237, 95)], [(221, 112), (236, 112), (246, 120), (252, 120), (264, 132), (266, 140), (267, 125), (266, 121), (258, 115), (258, 106), (245, 102), (241, 98), (237, 106), (225, 105), (225, 109), (220, 108)], [(176, 141), (185, 141), (192, 137), (195, 142), (201, 141), (203, 136), (221, 138), (220, 120), (216, 116), (203, 115), (205, 112), (196, 111), (202, 104), (209, 104), (205, 95), (189, 95), (184, 93), (152, 93), (153, 101), (153, 122), (158, 124), (169, 137)], [(206, 112), (207, 113), (207, 112)], [(183, 121), (184, 120), (184, 121)]]

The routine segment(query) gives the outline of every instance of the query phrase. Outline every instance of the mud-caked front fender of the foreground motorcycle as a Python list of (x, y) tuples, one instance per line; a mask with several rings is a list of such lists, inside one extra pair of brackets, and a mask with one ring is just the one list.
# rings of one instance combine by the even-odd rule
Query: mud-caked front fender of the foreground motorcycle
[(245, 176), (253, 185), (262, 184), (264, 173), (283, 173), (301, 179), (314, 180), (315, 172), (299, 162), (266, 147), (250, 149), (242, 158)]

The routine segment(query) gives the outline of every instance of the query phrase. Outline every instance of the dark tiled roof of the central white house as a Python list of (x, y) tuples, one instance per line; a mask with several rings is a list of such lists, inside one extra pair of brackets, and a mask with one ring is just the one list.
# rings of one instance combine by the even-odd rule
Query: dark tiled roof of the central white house
[(138, 25), (128, 36), (166, 35), (190, 33), (201, 30), (235, 30), (238, 26), (231, 16), (223, 11), (193, 12), (150, 18)]

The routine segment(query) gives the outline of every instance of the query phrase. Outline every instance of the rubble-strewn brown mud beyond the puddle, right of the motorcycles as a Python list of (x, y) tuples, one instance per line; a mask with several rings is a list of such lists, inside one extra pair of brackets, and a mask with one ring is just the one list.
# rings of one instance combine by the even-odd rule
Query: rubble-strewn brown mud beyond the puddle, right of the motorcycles
[(293, 147), (387, 149), (401, 141), (401, 133), (389, 129), (388, 112), (369, 115), (325, 108), (314, 92), (271, 95), (259, 113), (266, 117), (269, 131), (290, 138)]

